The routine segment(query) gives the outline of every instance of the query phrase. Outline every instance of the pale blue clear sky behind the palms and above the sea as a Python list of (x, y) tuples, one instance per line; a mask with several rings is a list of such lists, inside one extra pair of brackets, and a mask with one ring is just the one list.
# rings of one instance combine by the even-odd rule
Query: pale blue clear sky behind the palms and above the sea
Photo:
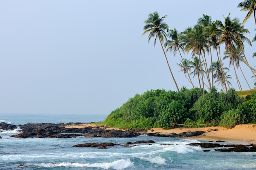
[[(222, 22), (231, 13), (242, 22), (246, 13), (237, 8), (242, 1), (2, 0), (0, 113), (108, 115), (135, 94), (176, 91), (159, 42), (153, 48), (153, 40), (148, 44), (148, 35), (141, 36), (148, 14), (167, 15), (170, 29), (181, 32), (203, 13)], [(253, 18), (245, 28), (252, 40)], [(245, 54), (255, 66), (252, 44)], [(191, 88), (178, 72), (179, 56), (167, 57), (178, 86)], [(252, 73), (243, 68), (253, 88)], [(231, 83), (238, 89), (235, 77)]]

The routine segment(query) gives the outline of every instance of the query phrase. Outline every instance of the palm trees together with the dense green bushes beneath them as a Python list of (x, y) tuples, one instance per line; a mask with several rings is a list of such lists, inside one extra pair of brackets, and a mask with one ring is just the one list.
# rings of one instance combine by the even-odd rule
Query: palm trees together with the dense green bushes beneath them
[[(236, 74), (238, 69), (243, 74), (240, 64), (246, 65), (252, 78), (256, 80), (256, 67), (250, 65), (255, 62), (249, 63), (244, 52), (245, 43), (252, 46), (252, 42), (256, 41), (256, 36), (252, 41), (245, 36), (249, 34), (249, 30), (244, 27), (244, 23), (252, 16), (256, 25), (256, 0), (244, 0), (238, 7), (241, 11), (248, 12), (243, 23), (238, 18), (232, 19), (230, 14), (223, 21), (212, 21), (211, 16), (203, 14), (193, 27), (180, 33), (175, 28), (169, 29), (164, 22), (166, 16), (160, 17), (157, 12), (150, 13), (144, 21), (142, 35), (148, 34), (148, 42), (153, 38), (154, 47), (156, 42), (160, 43), (177, 92), (156, 89), (136, 94), (112, 111), (104, 123), (124, 129), (168, 129), (172, 123), (211, 123), (232, 128), (240, 123), (256, 122), (256, 94), (239, 96), (232, 88), (229, 68), (222, 63), (222, 60), (229, 60), (229, 67), (234, 69), (234, 79), (240, 91), (243, 88)], [(173, 56), (178, 52), (180, 63), (177, 65), (181, 68), (180, 72), (184, 72), (192, 89), (180, 89), (177, 86), (166, 51), (171, 51), (171, 54), (173, 52)], [(191, 61), (184, 58), (184, 54), (191, 54)], [(256, 52), (252, 54), (252, 58), (255, 57)], [(244, 74), (243, 78), (247, 82)], [(197, 81), (199, 87), (193, 81)], [(220, 85), (221, 92), (217, 92), (216, 85)], [(248, 82), (247, 85), (251, 89)], [(210, 89), (209, 92), (206, 89)]]

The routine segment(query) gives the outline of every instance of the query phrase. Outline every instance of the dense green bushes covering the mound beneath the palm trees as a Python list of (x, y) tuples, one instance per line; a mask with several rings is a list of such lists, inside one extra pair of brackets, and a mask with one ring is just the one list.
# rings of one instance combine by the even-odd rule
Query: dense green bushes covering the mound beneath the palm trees
[(165, 128), (172, 123), (222, 125), (256, 121), (256, 94), (240, 97), (235, 89), (227, 93), (211, 92), (200, 95), (200, 89), (182, 87), (180, 93), (156, 89), (136, 94), (112, 111), (104, 124), (114, 128)]

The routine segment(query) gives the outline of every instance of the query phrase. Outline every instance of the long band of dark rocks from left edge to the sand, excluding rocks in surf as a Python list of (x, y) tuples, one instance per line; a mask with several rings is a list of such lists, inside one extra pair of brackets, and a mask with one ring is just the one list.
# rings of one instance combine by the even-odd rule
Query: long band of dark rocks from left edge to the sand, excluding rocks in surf
[[(85, 137), (135, 137), (141, 134), (145, 134), (148, 130), (145, 129), (129, 129), (129, 130), (115, 130), (106, 129), (106, 127), (95, 127), (89, 126), (86, 128), (65, 128), (65, 126), (73, 125), (74, 123), (27, 123), (24, 125), (11, 125), (5, 122), (0, 123), (0, 129), (2, 130), (14, 130), (20, 128), (20, 134), (12, 135), (15, 138), (71, 138), (75, 136), (85, 136)], [(82, 123), (75, 123), (76, 125)], [(163, 134), (159, 132), (147, 134), (148, 136), (160, 136), (160, 137), (190, 137), (202, 135), (204, 131), (196, 132), (182, 132), (180, 134)]]

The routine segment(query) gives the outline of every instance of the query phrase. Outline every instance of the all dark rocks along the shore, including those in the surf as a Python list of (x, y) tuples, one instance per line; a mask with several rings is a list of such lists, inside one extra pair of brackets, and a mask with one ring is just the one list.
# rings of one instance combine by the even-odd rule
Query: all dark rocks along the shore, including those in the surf
[[(79, 125), (82, 123), (75, 123)], [(176, 137), (176, 138), (186, 138), (191, 136), (200, 136), (204, 134), (204, 131), (195, 131), (195, 132), (182, 132), (179, 134), (171, 133), (164, 134), (161, 132), (152, 132), (146, 133), (148, 130), (145, 129), (129, 129), (129, 130), (116, 130), (108, 129), (104, 126), (95, 125), (94, 127), (88, 126), (85, 128), (66, 128), (67, 126), (74, 125), (74, 123), (27, 123), (24, 125), (12, 125), (5, 122), (0, 122), (1, 130), (14, 130), (20, 128), (20, 134), (12, 135), (11, 137), (15, 138), (71, 138), (76, 136), (85, 136), (85, 137), (122, 137), (129, 138), (139, 136), (141, 134), (146, 134), (148, 136), (159, 136), (159, 137)], [(1, 136), (0, 136), (1, 139)], [(214, 151), (220, 152), (256, 152), (256, 145), (220, 145), (219, 143), (223, 141), (216, 141), (216, 143), (190, 143), (187, 145), (199, 146), (201, 148), (216, 148)], [(134, 143), (127, 142), (122, 147), (133, 147), (137, 146), (139, 143), (155, 143), (154, 141), (137, 141)], [(99, 147), (99, 149), (108, 149), (108, 147), (116, 147), (119, 144), (115, 143), (81, 143), (74, 145), (73, 147)], [(202, 150), (208, 152), (210, 150)]]

